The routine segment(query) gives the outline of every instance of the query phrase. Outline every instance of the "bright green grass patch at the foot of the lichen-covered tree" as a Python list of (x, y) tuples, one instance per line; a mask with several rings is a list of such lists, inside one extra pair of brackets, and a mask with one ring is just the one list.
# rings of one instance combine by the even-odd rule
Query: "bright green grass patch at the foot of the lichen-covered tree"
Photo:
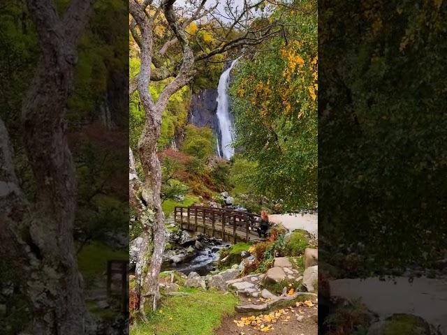
[(217, 290), (183, 289), (186, 297), (167, 297), (148, 323), (132, 325), (130, 335), (212, 335), (223, 315), (234, 313), (237, 297)]

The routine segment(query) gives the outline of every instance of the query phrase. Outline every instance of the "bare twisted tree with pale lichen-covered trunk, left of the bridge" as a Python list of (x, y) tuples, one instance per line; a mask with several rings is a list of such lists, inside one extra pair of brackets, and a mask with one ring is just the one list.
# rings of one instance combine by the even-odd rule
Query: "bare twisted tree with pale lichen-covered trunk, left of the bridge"
[[(255, 17), (254, 10), (263, 1), (245, 1), (241, 10), (236, 6), (232, 10), (233, 3), (227, 1), (225, 15), (219, 14), (217, 5), (205, 8), (206, 1), (190, 1), (184, 8), (177, 9), (174, 8), (175, 0), (163, 0), (160, 3), (131, 0), (129, 5), (132, 17), (129, 29), (140, 52), (140, 72), (131, 78), (129, 93), (138, 90), (145, 110), (145, 126), (138, 142), (138, 156), (145, 174), (142, 200), (147, 206), (142, 211), (145, 213), (145, 219), (142, 220), (144, 242), (135, 267), (135, 290), (143, 320), (146, 301), (155, 309), (159, 299), (158, 277), (165, 245), (160, 198), (161, 168), (156, 155), (162, 112), (170, 96), (191, 81), (196, 66), (204, 66), (205, 61), (229, 50), (258, 45), (283, 29), (280, 20), (259, 20)], [(182, 20), (177, 17), (181, 12)], [(188, 31), (190, 24), (203, 17), (211, 17), (214, 22), (211, 34), (216, 42), (211, 43), (210, 47), (200, 47), (200, 42), (197, 43), (196, 34), (201, 29)], [(227, 17), (227, 22), (223, 22), (222, 17)], [(170, 31), (170, 34), (166, 34), (166, 40), (159, 40), (156, 38), (157, 31), (163, 29)], [(196, 44), (191, 43), (191, 40), (196, 40)], [(170, 57), (166, 57), (168, 50), (173, 52)], [(149, 91), (149, 84), (166, 78), (173, 79), (155, 101)]]

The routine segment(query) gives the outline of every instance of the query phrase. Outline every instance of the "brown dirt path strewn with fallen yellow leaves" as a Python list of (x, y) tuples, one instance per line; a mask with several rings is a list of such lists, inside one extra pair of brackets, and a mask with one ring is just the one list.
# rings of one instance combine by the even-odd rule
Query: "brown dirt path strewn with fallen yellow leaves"
[(217, 330), (216, 335), (318, 334), (317, 302), (314, 300), (310, 304), (309, 301), (307, 304), (298, 304), (299, 306), (274, 308), (270, 312), (258, 313), (257, 315), (236, 313), (222, 320), (221, 327)]

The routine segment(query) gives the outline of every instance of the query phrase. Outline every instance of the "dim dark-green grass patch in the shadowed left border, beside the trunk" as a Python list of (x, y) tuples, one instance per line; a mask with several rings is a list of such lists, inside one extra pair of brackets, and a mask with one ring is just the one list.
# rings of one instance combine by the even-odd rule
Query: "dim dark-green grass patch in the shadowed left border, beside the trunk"
[(82, 248), (78, 254), (78, 267), (87, 285), (91, 281), (103, 279), (103, 274), (107, 271), (108, 260), (129, 260), (129, 252), (113, 250), (110, 246), (98, 241)]

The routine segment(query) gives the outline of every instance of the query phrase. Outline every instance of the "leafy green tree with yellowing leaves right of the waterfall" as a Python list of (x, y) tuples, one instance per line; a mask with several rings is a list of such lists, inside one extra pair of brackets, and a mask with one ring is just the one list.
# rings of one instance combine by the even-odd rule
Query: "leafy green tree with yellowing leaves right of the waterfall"
[(230, 94), (236, 145), (257, 163), (244, 184), (297, 209), (314, 207), (317, 199), (318, 24), (316, 1), (289, 6), (273, 14), (287, 23), (286, 38), (272, 38), (240, 59)]

